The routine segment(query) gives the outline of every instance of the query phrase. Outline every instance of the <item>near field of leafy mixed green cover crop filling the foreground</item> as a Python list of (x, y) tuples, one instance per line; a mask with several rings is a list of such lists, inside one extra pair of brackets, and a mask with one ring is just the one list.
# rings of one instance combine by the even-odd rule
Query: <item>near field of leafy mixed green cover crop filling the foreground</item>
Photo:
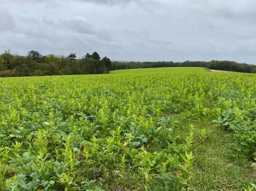
[(0, 190), (253, 190), (256, 75), (203, 70), (0, 78)]

